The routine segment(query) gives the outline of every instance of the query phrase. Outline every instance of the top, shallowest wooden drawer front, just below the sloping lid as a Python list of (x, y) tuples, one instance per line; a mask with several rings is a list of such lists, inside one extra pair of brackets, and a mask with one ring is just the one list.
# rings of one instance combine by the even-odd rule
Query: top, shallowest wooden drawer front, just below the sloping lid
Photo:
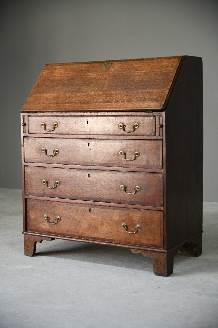
[[(45, 126), (42, 127), (41, 123)], [(55, 127), (55, 124), (58, 125)], [(126, 131), (119, 128), (122, 123)], [(138, 128), (133, 127), (138, 123)], [(45, 131), (52, 130), (53, 131)], [(28, 116), (29, 133), (155, 135), (155, 116)]]

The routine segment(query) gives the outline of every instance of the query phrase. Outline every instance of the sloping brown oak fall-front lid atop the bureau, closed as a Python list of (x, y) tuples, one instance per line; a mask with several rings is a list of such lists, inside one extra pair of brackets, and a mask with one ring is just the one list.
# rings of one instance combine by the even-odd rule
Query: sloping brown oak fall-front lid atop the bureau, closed
[(47, 64), (22, 111), (161, 110), (181, 58)]

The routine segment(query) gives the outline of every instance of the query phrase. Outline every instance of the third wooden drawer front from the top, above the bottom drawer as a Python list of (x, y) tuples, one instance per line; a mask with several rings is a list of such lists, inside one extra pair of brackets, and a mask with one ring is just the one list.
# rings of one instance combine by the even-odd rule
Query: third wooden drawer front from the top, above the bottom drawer
[[(46, 180), (46, 185), (42, 180)], [(126, 186), (127, 193), (135, 192), (136, 186), (141, 190), (128, 195), (121, 185)], [(26, 195), (162, 206), (162, 193), (159, 173), (25, 166)]]

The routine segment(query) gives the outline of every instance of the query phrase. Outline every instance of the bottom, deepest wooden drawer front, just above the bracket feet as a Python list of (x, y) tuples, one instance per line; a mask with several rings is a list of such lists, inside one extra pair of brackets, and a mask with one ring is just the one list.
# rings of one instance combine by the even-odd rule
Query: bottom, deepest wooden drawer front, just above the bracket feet
[[(81, 205), (35, 199), (26, 200), (27, 231), (104, 240), (122, 244), (163, 246), (163, 212), (125, 209), (96, 205)], [(44, 219), (47, 215), (47, 220)], [(60, 220), (57, 221), (56, 217)], [(48, 222), (57, 222), (49, 224)], [(137, 224), (141, 230), (135, 231)]]

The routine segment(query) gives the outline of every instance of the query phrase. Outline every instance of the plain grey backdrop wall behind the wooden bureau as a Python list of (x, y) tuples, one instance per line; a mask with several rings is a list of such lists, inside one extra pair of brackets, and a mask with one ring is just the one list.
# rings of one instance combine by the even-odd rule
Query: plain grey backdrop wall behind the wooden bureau
[(203, 58), (204, 200), (218, 201), (217, 17), (215, 0), (3, 1), (0, 186), (21, 188), (20, 110), (44, 64), (186, 54)]

